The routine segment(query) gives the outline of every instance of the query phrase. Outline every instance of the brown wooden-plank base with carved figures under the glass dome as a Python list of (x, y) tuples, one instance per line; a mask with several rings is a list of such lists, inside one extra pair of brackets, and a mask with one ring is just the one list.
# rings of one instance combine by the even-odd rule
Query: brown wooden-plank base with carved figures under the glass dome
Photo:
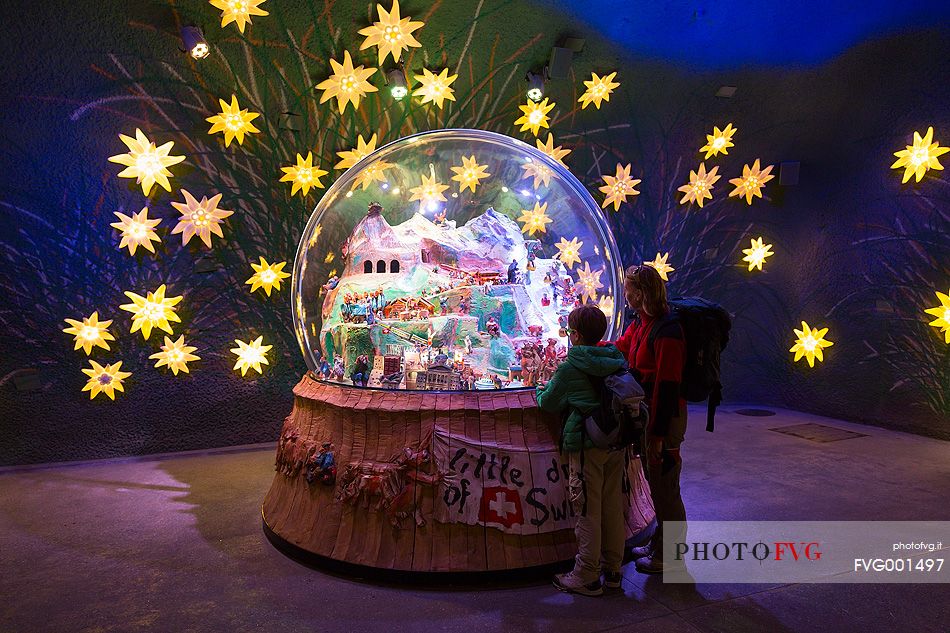
[[(282, 551), (357, 575), (540, 574), (576, 553), (559, 421), (533, 390), (385, 391), (304, 376), (294, 395), (261, 508)], [(635, 537), (654, 513), (636, 458), (628, 478)]]

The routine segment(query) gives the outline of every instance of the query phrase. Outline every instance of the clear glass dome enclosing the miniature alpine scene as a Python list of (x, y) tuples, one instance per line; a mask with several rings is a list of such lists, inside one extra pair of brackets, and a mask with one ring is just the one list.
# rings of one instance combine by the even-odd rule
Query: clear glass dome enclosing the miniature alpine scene
[(603, 212), (559, 161), (484, 130), (401, 138), (317, 204), (297, 250), (294, 327), (319, 380), (385, 389), (533, 387), (593, 303), (619, 334)]

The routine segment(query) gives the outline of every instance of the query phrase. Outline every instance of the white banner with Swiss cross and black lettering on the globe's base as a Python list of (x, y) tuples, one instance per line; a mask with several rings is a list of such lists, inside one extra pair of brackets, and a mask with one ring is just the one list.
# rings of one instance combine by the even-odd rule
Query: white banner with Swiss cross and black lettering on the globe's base
[(568, 465), (556, 450), (529, 453), (436, 428), (432, 452), (442, 475), (435, 498), (437, 521), (486, 525), (510, 534), (574, 527)]

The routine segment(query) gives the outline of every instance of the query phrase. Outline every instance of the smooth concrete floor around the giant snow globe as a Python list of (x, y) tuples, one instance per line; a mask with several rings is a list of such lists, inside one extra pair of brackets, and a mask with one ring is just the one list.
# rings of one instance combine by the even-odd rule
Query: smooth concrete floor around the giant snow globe
[[(790, 411), (702, 412), (684, 445), (691, 519), (950, 520), (950, 443)], [(769, 428), (865, 433), (815, 443)], [(0, 631), (947, 631), (945, 585), (547, 581), (400, 587), (305, 567), (261, 530), (273, 446), (0, 471)]]

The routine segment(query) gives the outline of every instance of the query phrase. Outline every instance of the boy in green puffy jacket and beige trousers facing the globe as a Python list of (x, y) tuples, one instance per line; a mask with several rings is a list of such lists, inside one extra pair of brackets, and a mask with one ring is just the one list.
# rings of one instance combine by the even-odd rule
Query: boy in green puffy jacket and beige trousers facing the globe
[[(624, 451), (595, 448), (584, 431), (584, 419), (600, 405), (591, 376), (603, 378), (626, 367), (613, 345), (598, 346), (607, 331), (600, 308), (583, 305), (567, 318), (571, 349), (567, 359), (538, 389), (538, 406), (550, 413), (567, 414), (561, 433), (561, 451), (570, 460), (569, 493), (577, 515), (577, 556), (574, 569), (554, 577), (561, 591), (599, 596), (604, 586), (619, 588), (626, 533), (621, 482)], [(601, 572), (604, 582), (601, 582)]]

